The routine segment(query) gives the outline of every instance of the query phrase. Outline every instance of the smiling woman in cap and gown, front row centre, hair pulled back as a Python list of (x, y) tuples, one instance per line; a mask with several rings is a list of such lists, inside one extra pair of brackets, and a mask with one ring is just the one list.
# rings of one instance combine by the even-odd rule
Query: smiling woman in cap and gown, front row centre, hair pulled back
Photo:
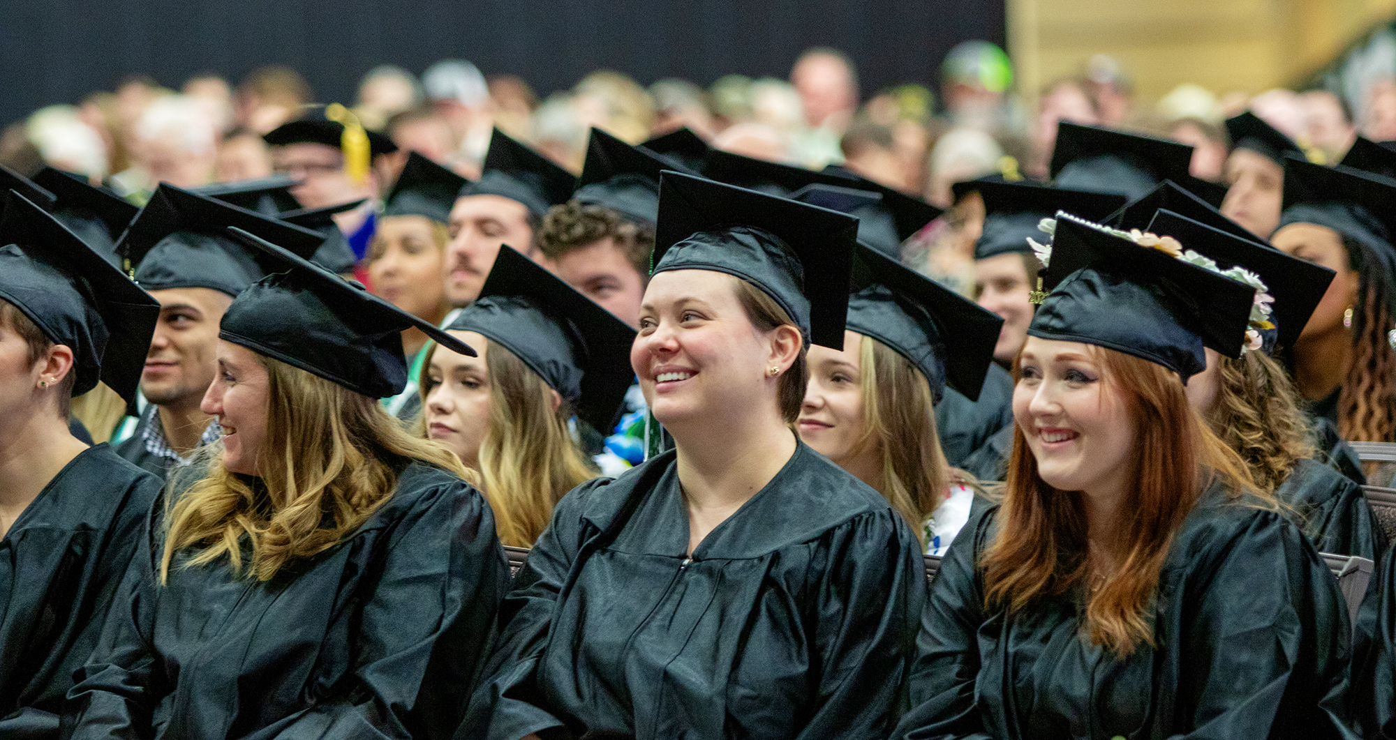
[(926, 591), (916, 535), (790, 424), (842, 346), (857, 225), (666, 172), (631, 364), (676, 450), (568, 493), (458, 739), (882, 739)]

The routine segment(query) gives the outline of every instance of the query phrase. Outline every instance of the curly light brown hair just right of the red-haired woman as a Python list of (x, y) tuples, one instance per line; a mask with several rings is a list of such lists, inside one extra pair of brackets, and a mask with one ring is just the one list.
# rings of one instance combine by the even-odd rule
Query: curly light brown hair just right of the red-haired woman
[(1314, 457), (1314, 431), (1290, 376), (1263, 352), (1219, 357), (1217, 399), (1208, 422), (1251, 471), (1255, 484), (1273, 491), (1294, 465)]

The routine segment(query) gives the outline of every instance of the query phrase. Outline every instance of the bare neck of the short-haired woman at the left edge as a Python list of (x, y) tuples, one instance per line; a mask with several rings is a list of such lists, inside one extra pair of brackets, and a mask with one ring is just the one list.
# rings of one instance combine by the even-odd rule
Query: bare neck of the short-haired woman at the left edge
[(49, 409), (0, 424), (0, 538), (87, 447)]

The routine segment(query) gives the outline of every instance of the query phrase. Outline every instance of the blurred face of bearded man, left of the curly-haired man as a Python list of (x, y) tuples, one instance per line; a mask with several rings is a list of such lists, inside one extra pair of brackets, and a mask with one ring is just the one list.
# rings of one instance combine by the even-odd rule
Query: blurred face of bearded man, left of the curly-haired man
[(522, 202), (504, 195), (465, 195), (451, 208), (445, 293), (454, 306), (480, 295), (500, 246), (533, 256), (533, 226)]

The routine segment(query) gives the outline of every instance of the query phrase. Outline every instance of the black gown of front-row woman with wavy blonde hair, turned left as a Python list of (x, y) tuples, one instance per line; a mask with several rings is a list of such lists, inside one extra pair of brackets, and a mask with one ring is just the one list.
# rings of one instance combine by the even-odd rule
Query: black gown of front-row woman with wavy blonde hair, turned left
[[(156, 507), (161, 508), (161, 507)], [(420, 462), (329, 550), (271, 581), (170, 568), (158, 517), (73, 688), (74, 739), (450, 737), (508, 565), (484, 498)], [(250, 550), (247, 550), (250, 554)]]

